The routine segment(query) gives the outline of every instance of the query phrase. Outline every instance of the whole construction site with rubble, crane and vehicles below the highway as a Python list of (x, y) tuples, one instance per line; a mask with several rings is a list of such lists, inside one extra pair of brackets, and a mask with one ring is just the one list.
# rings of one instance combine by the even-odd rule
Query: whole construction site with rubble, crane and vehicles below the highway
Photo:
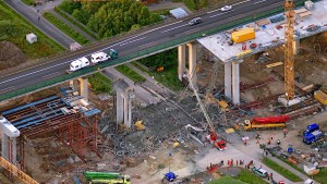
[(0, 184), (326, 183), (327, 0), (282, 8), (179, 46), (181, 90), (136, 62), (146, 81), (114, 94), (78, 78), (1, 101)]

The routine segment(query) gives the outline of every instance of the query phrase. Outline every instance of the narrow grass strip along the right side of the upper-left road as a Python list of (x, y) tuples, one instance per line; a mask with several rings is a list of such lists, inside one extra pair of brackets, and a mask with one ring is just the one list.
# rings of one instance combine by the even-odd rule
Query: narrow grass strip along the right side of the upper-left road
[(45, 12), (44, 16), (51, 24), (53, 24), (56, 27), (58, 27), (60, 30), (62, 30), (64, 34), (66, 34), (69, 37), (73, 38), (75, 41), (80, 42), (81, 45), (85, 45), (88, 42), (88, 40), (83, 35), (81, 35), (80, 33), (72, 29), (69, 25), (64, 24), (61, 20), (56, 17), (52, 13)]

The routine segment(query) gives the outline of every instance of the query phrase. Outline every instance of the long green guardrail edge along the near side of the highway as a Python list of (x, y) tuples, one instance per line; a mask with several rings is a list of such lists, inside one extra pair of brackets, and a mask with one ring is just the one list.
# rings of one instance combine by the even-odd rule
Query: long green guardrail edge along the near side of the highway
[[(301, 5), (301, 4), (304, 3), (304, 1), (305, 0), (301, 0), (301, 1), (295, 2), (295, 5), (296, 7)], [(272, 9), (270, 11), (256, 14), (256, 19), (264, 19), (264, 17), (267, 17), (267, 16), (280, 13), (282, 11), (283, 11), (282, 7), (276, 8), (276, 9)], [(43, 82), (43, 83), (38, 83), (34, 86), (29, 86), (29, 87), (26, 87), (26, 88), (23, 88), (23, 89), (17, 89), (15, 91), (11, 91), (11, 93), (1, 95), (0, 96), (0, 101), (11, 99), (13, 97), (22, 96), (24, 94), (28, 94), (28, 93), (32, 93), (32, 91), (35, 91), (35, 90), (38, 90), (38, 89), (41, 89), (41, 88), (45, 88), (45, 87), (48, 87), (48, 86), (53, 86), (56, 84), (63, 83), (65, 81), (72, 79), (72, 78), (76, 78), (78, 76), (85, 76), (85, 75), (95, 73), (97, 71), (104, 70), (105, 68), (109, 68), (109, 66), (121, 64), (121, 63), (126, 62), (126, 61), (135, 60), (136, 58), (137, 59), (138, 58), (144, 58), (146, 56), (153, 54), (153, 53), (158, 52), (158, 51), (168, 50), (169, 48), (173, 48), (173, 47), (177, 47), (179, 45), (193, 41), (193, 40), (195, 40), (197, 38), (201, 38), (203, 36), (208, 36), (208, 35), (213, 35), (213, 34), (216, 34), (216, 33), (219, 33), (219, 32), (222, 32), (222, 30), (227, 30), (227, 29), (233, 28), (238, 25), (250, 23), (252, 21), (253, 21), (253, 16), (246, 16), (244, 19), (240, 19), (240, 20), (237, 20), (234, 22), (230, 22), (228, 24), (223, 24), (223, 25), (218, 26), (218, 27), (214, 27), (214, 28), (210, 28), (210, 29), (207, 29), (207, 30), (202, 30), (202, 32), (198, 32), (198, 33), (195, 33), (195, 34), (192, 34), (192, 35), (187, 35), (187, 36), (182, 37), (182, 38), (177, 38), (172, 41), (168, 41), (168, 42), (165, 42), (165, 44), (161, 44), (161, 45), (158, 45), (158, 46), (154, 46), (154, 47), (147, 48), (145, 50), (142, 50), (142, 51), (138, 51), (138, 52), (131, 53), (129, 56), (119, 58), (119, 59), (110, 61), (110, 62), (105, 62), (105, 63), (101, 63), (101, 64), (98, 64), (98, 65), (92, 65), (92, 66), (85, 68), (81, 71), (73, 72), (71, 74), (59, 76), (57, 78), (52, 78), (52, 79), (49, 79), (49, 81), (46, 81), (46, 82)]]

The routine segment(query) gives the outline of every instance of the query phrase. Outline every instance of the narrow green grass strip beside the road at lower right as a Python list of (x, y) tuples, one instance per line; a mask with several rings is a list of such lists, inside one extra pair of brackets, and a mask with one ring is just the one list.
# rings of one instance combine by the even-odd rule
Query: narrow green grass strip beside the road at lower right
[(279, 174), (283, 175), (284, 177), (287, 177), (288, 180), (290, 180), (292, 182), (302, 182), (303, 181), (301, 177), (299, 177), (294, 173), (290, 172), (289, 170), (284, 169), (283, 167), (276, 163), (274, 160), (271, 160), (267, 157), (265, 157), (263, 161), (267, 167), (271, 168), (272, 170), (275, 170), (276, 172), (278, 172)]

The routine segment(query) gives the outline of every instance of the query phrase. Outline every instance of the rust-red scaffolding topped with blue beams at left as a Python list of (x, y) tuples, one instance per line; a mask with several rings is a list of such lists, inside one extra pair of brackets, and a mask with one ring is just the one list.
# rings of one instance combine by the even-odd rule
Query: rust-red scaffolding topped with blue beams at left
[[(85, 150), (97, 152), (98, 109), (93, 109), (81, 96), (57, 95), (1, 112), (20, 132), (17, 137), (21, 169), (25, 170), (25, 143), (44, 135), (55, 135), (83, 161)], [(9, 161), (13, 147), (9, 138)], [(14, 156), (15, 157), (15, 156)]]

